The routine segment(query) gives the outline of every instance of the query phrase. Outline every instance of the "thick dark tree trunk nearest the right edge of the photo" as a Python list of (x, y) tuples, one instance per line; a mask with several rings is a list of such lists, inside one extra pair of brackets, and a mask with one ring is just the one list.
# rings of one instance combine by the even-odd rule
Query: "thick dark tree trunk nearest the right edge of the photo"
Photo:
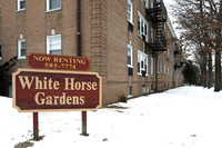
[(215, 87), (214, 91), (221, 90), (221, 53), (220, 51), (215, 52)]

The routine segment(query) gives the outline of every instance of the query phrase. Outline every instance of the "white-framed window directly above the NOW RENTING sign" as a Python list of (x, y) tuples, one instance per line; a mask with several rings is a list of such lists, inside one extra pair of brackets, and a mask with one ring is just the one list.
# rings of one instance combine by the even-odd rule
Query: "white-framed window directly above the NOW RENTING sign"
[(61, 34), (47, 37), (47, 53), (61, 55)]

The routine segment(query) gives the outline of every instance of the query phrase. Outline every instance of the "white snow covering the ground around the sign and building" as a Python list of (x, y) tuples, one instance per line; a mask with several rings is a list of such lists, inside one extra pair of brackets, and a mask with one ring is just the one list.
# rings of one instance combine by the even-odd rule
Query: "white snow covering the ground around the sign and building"
[[(111, 106), (88, 111), (89, 137), (80, 136), (80, 111), (39, 114), (44, 138), (32, 148), (222, 147), (222, 92), (213, 89), (181, 87)], [(32, 114), (18, 112), (11, 98), (0, 97), (0, 147), (32, 138)]]

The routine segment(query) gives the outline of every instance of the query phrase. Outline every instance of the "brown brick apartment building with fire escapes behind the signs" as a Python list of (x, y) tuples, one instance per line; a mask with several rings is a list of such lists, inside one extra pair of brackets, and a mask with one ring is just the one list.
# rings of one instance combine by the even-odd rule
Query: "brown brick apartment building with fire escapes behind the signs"
[(0, 63), (31, 52), (88, 57), (103, 105), (182, 85), (182, 53), (162, 0), (1, 0)]

